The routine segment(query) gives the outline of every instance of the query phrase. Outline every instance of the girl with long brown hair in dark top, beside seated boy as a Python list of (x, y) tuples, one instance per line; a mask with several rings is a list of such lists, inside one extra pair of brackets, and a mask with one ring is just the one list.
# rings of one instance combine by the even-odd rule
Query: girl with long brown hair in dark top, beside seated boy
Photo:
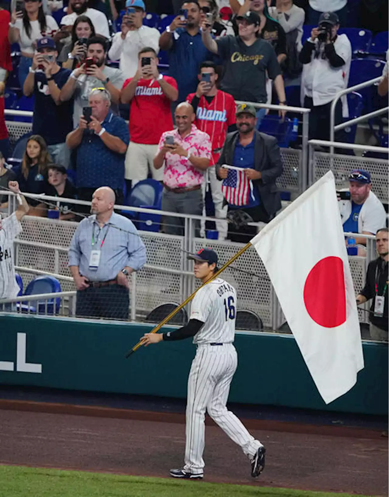
[[(26, 143), (20, 170), (17, 173), (21, 191), (43, 194), (47, 192), (48, 165), (52, 163), (45, 140), (40, 135), (31, 135)], [(31, 206), (30, 216), (46, 215), (46, 206), (37, 200), (27, 199)]]

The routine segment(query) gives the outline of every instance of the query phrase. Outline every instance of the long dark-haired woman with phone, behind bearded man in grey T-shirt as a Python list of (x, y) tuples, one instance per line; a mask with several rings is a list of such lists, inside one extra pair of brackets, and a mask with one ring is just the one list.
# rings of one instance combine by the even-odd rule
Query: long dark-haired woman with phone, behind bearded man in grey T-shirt
[(92, 21), (86, 15), (79, 15), (72, 27), (72, 41), (64, 46), (57, 62), (62, 62), (65, 69), (79, 67), (85, 59), (86, 42), (92, 36), (96, 36)]

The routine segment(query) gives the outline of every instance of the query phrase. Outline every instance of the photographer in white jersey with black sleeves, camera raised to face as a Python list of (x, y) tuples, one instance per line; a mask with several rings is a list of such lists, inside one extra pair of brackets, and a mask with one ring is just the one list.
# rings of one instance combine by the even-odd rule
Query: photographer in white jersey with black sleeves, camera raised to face
[[(320, 15), (319, 25), (300, 52), (304, 65), (302, 105), (311, 109), (309, 139), (329, 140), (331, 102), (347, 88), (351, 64), (351, 43), (345, 34), (338, 36), (339, 18), (334, 12)], [(348, 117), (347, 96), (343, 95), (335, 109), (335, 124)], [(337, 141), (342, 141), (340, 132)]]

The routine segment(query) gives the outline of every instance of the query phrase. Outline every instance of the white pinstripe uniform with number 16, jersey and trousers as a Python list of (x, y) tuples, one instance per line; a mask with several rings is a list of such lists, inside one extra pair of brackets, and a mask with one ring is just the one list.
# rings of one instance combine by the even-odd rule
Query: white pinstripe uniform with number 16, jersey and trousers
[(262, 446), (226, 407), (237, 367), (235, 306), (235, 289), (221, 278), (200, 288), (192, 302), (190, 319), (204, 326), (193, 338), (197, 352), (188, 378), (184, 466), (188, 473), (203, 474), (206, 410), (250, 459)]

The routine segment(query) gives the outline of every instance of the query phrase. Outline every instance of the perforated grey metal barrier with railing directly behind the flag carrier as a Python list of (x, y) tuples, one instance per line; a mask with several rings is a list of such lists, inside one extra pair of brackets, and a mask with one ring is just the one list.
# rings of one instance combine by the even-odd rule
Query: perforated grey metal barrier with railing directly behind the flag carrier
[[(12, 192), (5, 190), (0, 194), (14, 196)], [(30, 196), (46, 201), (58, 200), (57, 197)], [(68, 203), (68, 200), (66, 202)], [(72, 199), (69, 199), (69, 203), (90, 205), (88, 202)], [(8, 204), (11, 205), (12, 202)], [(138, 212), (155, 212), (151, 209), (136, 207), (116, 207)], [(166, 213), (162, 211), (161, 214)], [(181, 237), (158, 232), (139, 232), (146, 246), (148, 263), (141, 271), (131, 276), (131, 321), (142, 321), (152, 309), (161, 304), (183, 302), (200, 284), (193, 276), (191, 261), (186, 258), (188, 252), (194, 253), (205, 246), (211, 247), (219, 254), (220, 262), (224, 263), (243, 247), (242, 244), (230, 241), (193, 237), (191, 230), (193, 221), (201, 219), (201, 216), (168, 214), (185, 219), (185, 235)], [(206, 219), (212, 220), (213, 218)], [(260, 223), (252, 223), (252, 225), (260, 228)], [(75, 291), (73, 278), (68, 268), (68, 249), (78, 223), (25, 216), (22, 226), (23, 231), (14, 243), (14, 261), (23, 286), (26, 287), (34, 275), (48, 274), (60, 280), (64, 292)], [(355, 236), (355, 234), (349, 235)], [(365, 284), (367, 263), (376, 256), (375, 237), (365, 235), (365, 238), (367, 239), (366, 256), (349, 257), (356, 292), (359, 292)], [(246, 250), (232, 266), (226, 269), (223, 277), (236, 288), (238, 309), (249, 310), (257, 314), (267, 330), (283, 332), (280, 328), (285, 324), (285, 318), (267, 271), (255, 250)], [(21, 300), (21, 298), (16, 300)], [(364, 309), (359, 311), (361, 323), (368, 322), (368, 313)], [(189, 306), (187, 312), (189, 312)]]

